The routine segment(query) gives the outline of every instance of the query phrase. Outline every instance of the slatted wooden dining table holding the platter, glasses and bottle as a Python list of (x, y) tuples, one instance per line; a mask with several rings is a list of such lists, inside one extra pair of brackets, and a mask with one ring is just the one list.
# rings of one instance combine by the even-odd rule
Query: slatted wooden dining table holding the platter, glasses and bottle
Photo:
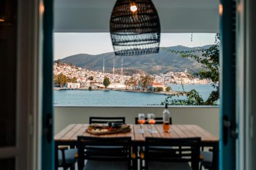
[[(139, 146), (143, 146), (146, 137), (158, 137), (158, 138), (190, 138), (190, 137), (201, 137), (201, 147), (212, 147), (213, 148), (213, 169), (219, 168), (219, 138), (212, 135), (210, 132), (201, 128), (198, 125), (170, 125), (169, 132), (163, 131), (163, 125), (154, 125), (152, 129), (155, 133), (150, 133), (150, 125), (144, 125), (144, 133), (139, 133), (139, 125), (130, 125), (131, 132), (126, 133), (114, 133), (106, 135), (92, 135), (86, 132), (89, 124), (71, 124), (61, 130), (54, 136), (55, 141), (55, 169), (57, 169), (58, 161), (58, 146), (69, 145), (71, 148), (76, 147), (77, 136), (93, 136), (93, 137), (131, 137), (133, 152), (137, 153)], [(135, 154), (137, 157), (137, 154)], [(133, 161), (134, 167), (137, 167), (137, 158)]]

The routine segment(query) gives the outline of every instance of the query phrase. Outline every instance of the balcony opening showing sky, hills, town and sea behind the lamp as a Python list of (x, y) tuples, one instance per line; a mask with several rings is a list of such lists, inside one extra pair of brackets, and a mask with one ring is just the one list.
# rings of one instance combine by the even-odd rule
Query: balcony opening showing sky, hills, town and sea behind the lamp
[(54, 33), (54, 105), (160, 105), (169, 95), (187, 99), (193, 89), (206, 101), (218, 82), (200, 78), (204, 66), (181, 52), (203, 58), (200, 50), (215, 39), (209, 33), (162, 33), (158, 54), (120, 57), (109, 33)]

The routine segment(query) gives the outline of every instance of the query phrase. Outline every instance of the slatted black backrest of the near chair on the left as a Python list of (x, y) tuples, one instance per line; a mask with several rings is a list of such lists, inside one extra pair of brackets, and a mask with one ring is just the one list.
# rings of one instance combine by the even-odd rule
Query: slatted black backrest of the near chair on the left
[(131, 137), (77, 137), (78, 169), (84, 160), (127, 161), (131, 166)]

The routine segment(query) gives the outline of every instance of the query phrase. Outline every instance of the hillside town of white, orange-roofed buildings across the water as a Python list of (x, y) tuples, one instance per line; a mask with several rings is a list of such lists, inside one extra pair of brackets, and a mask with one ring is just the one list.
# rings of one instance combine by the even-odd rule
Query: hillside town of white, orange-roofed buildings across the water
[[(104, 78), (108, 78), (110, 83), (106, 88), (113, 89), (134, 89), (134, 90), (149, 90), (155, 91), (157, 88), (160, 91), (165, 91), (170, 84), (210, 84), (211, 82), (206, 79), (199, 79), (185, 71), (169, 71), (165, 74), (145, 75), (133, 74), (132, 76), (123, 75), (121, 71), (104, 72), (104, 66), (101, 71), (88, 70), (67, 63), (54, 62), (53, 65), (54, 86), (66, 88), (104, 88)], [(60, 76), (65, 78), (60, 82)], [(142, 78), (147, 78), (146, 84), (143, 88), (140, 83)], [(145, 81), (145, 80), (144, 80)]]

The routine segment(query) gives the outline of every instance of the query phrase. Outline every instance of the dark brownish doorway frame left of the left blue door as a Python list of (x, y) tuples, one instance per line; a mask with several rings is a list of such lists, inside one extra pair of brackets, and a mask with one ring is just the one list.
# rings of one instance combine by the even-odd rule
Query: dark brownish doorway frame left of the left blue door
[(15, 158), (15, 169), (40, 170), (40, 30), (44, 8), (42, 0), (16, 3), (16, 139), (15, 145), (0, 148), (0, 158)]

